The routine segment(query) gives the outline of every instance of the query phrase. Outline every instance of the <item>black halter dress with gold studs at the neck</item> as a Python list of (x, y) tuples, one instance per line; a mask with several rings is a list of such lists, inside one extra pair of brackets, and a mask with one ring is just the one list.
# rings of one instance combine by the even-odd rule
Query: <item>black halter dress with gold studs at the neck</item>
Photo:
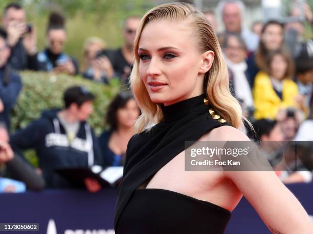
[(231, 213), (213, 203), (165, 189), (139, 189), (178, 153), (213, 128), (229, 125), (208, 112), (205, 95), (164, 107), (163, 121), (128, 142), (123, 180), (118, 188), (117, 234), (223, 233)]

